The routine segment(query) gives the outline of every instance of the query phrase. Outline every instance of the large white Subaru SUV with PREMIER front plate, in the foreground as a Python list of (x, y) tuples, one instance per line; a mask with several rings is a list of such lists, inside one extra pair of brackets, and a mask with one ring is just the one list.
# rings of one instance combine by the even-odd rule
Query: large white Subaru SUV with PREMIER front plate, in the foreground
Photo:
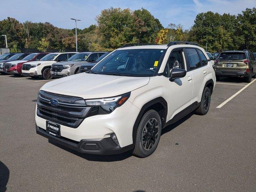
[(192, 111), (208, 112), (215, 83), (210, 59), (197, 44), (128, 44), (88, 73), (44, 84), (36, 132), (81, 153), (131, 150), (146, 157), (164, 127)]

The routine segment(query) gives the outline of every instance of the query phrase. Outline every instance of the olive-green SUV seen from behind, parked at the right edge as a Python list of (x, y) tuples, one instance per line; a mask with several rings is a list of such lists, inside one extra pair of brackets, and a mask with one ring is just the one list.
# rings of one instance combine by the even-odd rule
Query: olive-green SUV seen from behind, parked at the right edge
[(256, 60), (249, 50), (221, 52), (214, 63), (216, 80), (222, 76), (237, 76), (245, 77), (249, 83), (252, 76), (256, 77)]

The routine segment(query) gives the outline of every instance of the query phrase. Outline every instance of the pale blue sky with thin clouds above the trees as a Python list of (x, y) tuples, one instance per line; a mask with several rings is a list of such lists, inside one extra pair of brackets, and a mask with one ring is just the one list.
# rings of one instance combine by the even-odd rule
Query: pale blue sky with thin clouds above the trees
[[(0, 20), (9, 17), (20, 22), (50, 22), (60, 28), (78, 28), (96, 24), (96, 16), (106, 8), (121, 7), (136, 10), (146, 8), (164, 27), (182, 24), (189, 29), (200, 12), (241, 13), (246, 7), (256, 7), (256, 0), (0, 0)], [(3, 6), (4, 5), (4, 6)]]

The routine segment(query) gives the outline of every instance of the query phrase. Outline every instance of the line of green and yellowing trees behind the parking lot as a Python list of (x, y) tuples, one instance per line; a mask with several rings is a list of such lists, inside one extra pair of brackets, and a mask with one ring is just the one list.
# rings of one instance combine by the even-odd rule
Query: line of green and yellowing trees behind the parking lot
[[(0, 21), (0, 34), (7, 35), (13, 52), (21, 48), (75, 49), (75, 29), (63, 29), (49, 22), (19, 22), (15, 18)], [(197, 42), (210, 52), (249, 49), (256, 52), (256, 8), (241, 14), (200, 13), (187, 30), (182, 24), (166, 28), (146, 9), (108, 8), (96, 16), (96, 24), (77, 29), (78, 50), (109, 51), (127, 43), (167, 44), (170, 41)], [(0, 47), (5, 47), (4, 37)]]

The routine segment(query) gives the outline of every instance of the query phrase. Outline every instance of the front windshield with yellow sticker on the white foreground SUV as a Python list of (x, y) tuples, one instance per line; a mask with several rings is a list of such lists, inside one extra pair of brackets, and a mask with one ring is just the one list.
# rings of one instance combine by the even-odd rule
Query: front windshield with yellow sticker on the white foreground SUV
[(160, 65), (162, 49), (117, 50), (104, 58), (92, 70), (96, 74), (120, 76), (153, 76)]

